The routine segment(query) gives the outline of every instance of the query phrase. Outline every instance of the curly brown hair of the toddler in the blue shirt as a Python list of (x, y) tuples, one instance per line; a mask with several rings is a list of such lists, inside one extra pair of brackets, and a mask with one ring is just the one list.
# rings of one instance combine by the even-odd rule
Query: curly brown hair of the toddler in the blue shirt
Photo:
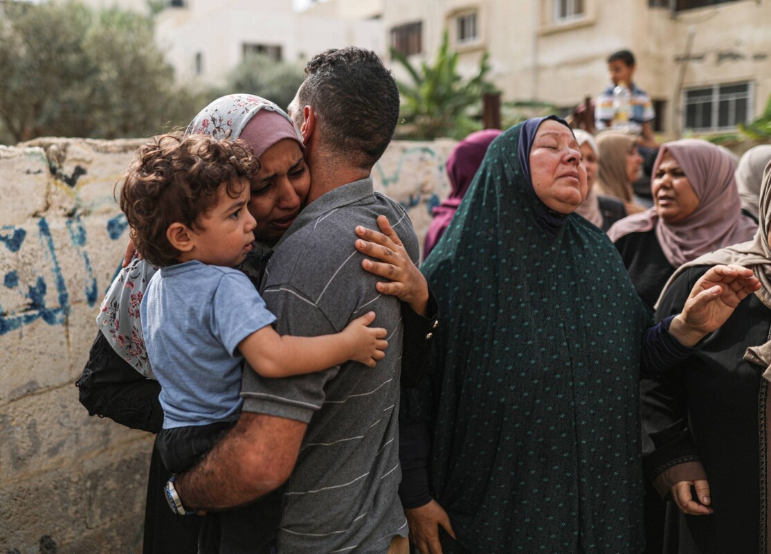
[(136, 251), (153, 265), (178, 263), (181, 252), (166, 236), (169, 226), (197, 228), (200, 215), (217, 204), (220, 187), (238, 198), (241, 179), (251, 181), (259, 170), (243, 140), (171, 133), (140, 147), (120, 189)]

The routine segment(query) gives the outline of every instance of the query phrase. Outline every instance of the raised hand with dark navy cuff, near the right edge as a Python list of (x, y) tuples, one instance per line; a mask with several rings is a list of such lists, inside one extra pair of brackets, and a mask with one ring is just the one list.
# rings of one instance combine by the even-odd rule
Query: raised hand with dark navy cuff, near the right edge
[(739, 302), (760, 289), (751, 269), (741, 265), (715, 265), (693, 285), (682, 312), (669, 333), (683, 346), (695, 346), (731, 316)]

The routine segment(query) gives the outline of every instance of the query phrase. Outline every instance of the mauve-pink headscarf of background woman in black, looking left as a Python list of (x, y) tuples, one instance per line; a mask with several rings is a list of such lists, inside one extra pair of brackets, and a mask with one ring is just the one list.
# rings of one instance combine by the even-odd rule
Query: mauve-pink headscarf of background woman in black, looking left
[(746, 242), (757, 225), (742, 216), (734, 171), (736, 160), (706, 140), (683, 139), (658, 150), (651, 177), (655, 178), (665, 152), (672, 154), (699, 198), (696, 210), (677, 223), (658, 217), (656, 208), (618, 221), (608, 231), (611, 241), (629, 233), (655, 228), (658, 244), (675, 268), (718, 248)]

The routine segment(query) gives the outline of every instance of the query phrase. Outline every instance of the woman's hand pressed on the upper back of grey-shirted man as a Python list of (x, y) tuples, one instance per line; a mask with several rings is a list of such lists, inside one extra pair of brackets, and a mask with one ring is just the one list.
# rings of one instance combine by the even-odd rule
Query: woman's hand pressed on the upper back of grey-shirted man
[(413, 312), (426, 316), (429, 301), (426, 278), (412, 263), (385, 215), (378, 216), (378, 227), (382, 233), (361, 225), (356, 227), (356, 235), (360, 237), (356, 241), (356, 249), (379, 260), (362, 260), (362, 267), (374, 275), (390, 279), (390, 282), (379, 282), (375, 285), (378, 292), (396, 296), (402, 302), (408, 303)]

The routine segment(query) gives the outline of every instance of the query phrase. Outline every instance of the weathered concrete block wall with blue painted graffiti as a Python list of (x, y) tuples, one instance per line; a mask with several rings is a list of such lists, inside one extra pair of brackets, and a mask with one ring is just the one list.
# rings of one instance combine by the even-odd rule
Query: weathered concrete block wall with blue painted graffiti
[[(152, 437), (89, 417), (74, 383), (126, 243), (113, 187), (142, 143), (0, 146), (0, 552), (141, 551)], [(453, 146), (395, 142), (373, 171), (421, 242)]]

